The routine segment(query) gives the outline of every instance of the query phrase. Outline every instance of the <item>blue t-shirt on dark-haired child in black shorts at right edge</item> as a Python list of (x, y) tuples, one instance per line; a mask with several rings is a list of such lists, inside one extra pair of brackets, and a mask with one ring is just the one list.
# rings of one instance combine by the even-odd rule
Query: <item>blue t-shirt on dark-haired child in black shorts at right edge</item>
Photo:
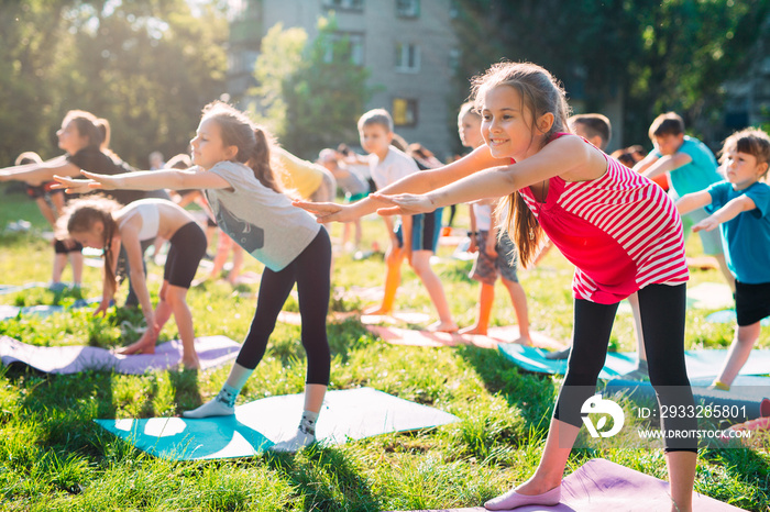
[(732, 183), (721, 181), (708, 187), (708, 193), (712, 203), (706, 210), (712, 213), (743, 194), (757, 205), (719, 224), (722, 244), (727, 268), (737, 280), (747, 285), (770, 282), (770, 187), (758, 181), (735, 190)]

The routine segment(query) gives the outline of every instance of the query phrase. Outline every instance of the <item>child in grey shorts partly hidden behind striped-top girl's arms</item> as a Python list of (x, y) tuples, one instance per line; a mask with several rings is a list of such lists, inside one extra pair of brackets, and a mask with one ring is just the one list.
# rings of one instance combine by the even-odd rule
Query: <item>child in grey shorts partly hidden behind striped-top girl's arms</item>
[[(463, 146), (475, 149), (484, 145), (481, 135), (481, 115), (468, 102), (460, 108), (458, 132)], [(486, 334), (492, 305), (495, 301), (495, 281), (499, 275), (514, 304), (519, 337), (514, 343), (531, 345), (529, 337), (529, 312), (527, 296), (516, 275), (516, 246), (507, 232), (498, 233), (497, 214), (493, 212), (497, 200), (479, 201), (471, 204), (471, 246), (469, 252), (477, 252), (471, 278), (481, 282), (479, 294), (479, 318), (476, 324), (460, 331), (462, 334)]]

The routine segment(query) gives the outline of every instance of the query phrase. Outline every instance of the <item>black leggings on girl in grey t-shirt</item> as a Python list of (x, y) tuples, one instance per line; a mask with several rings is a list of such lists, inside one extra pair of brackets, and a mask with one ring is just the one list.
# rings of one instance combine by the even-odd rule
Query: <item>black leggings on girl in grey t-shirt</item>
[(321, 227), (310, 245), (286, 268), (277, 272), (265, 268), (256, 298), (254, 320), (235, 359), (239, 365), (254, 369), (260, 364), (278, 313), (296, 282), (299, 313), (302, 318), (301, 340), (308, 359), (306, 382), (329, 385), (331, 354), (327, 340), (327, 313), (330, 267), (331, 242), (327, 230)]

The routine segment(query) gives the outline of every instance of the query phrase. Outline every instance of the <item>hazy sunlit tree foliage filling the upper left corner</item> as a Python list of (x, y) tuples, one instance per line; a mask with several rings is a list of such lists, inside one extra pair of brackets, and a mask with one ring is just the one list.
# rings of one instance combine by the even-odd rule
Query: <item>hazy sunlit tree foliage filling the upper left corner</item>
[(200, 109), (224, 91), (227, 19), (185, 0), (23, 0), (0, 9), (0, 157), (59, 154), (68, 110), (110, 121), (112, 147), (146, 167), (186, 152)]

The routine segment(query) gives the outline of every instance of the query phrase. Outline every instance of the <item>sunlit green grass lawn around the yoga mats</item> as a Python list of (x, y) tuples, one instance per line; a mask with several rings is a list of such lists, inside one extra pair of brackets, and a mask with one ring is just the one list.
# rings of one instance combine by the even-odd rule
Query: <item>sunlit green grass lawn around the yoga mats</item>
[[(2, 189), (0, 189), (1, 192)], [(44, 222), (34, 204), (3, 196), (0, 227), (28, 219), (35, 230)], [(465, 209), (460, 208), (461, 213)], [(458, 221), (462, 225), (463, 219)], [(382, 222), (365, 221), (366, 244), (385, 237)], [(341, 236), (339, 225), (333, 236)], [(697, 244), (696, 241), (690, 243)], [(47, 281), (51, 248), (37, 232), (0, 235), (1, 283)], [(690, 248), (690, 247), (689, 247)], [(697, 252), (697, 245), (692, 247)], [(449, 256), (442, 248), (440, 256)], [(461, 325), (475, 320), (479, 286), (466, 275), (470, 263), (436, 265)], [(333, 286), (380, 286), (382, 258), (336, 259)], [(261, 271), (253, 260), (245, 270)], [(150, 266), (150, 289), (158, 288), (161, 269)], [(68, 279), (65, 271), (65, 280)], [(527, 290), (532, 329), (566, 340), (572, 327), (571, 267), (552, 251), (539, 268), (520, 271)], [(714, 270), (693, 271), (692, 283), (719, 281)], [(87, 267), (84, 297), (100, 293), (98, 269)], [(416, 276), (404, 271), (397, 307), (435, 316)], [(119, 297), (124, 297), (121, 289)], [(254, 287), (233, 290), (208, 282), (189, 293), (198, 335), (245, 335), (255, 307)], [(0, 296), (9, 304), (73, 300), (44, 290)], [(337, 296), (336, 310), (366, 302)], [(296, 310), (289, 299), (287, 309)], [(703, 311), (688, 312), (686, 347), (729, 344), (729, 325), (708, 324)], [(121, 322), (141, 323), (141, 313), (111, 310), (106, 319), (88, 311), (47, 319), (0, 322), (0, 334), (36, 345), (118, 346), (138, 334)], [(514, 319), (509, 300), (497, 289), (493, 324)], [(175, 338), (169, 322), (161, 341)], [(96, 418), (175, 415), (215, 396), (229, 368), (207, 372), (162, 371), (147, 376), (88, 372), (41, 376), (0, 369), (0, 509), (9, 511), (380, 511), (479, 505), (536, 467), (560, 377), (519, 371), (496, 352), (476, 347), (420, 348), (393, 346), (373, 337), (356, 321), (329, 325), (332, 348), (331, 389), (369, 386), (397, 397), (451, 412), (461, 421), (410, 434), (387, 434), (331, 448), (312, 447), (297, 455), (261, 455), (224, 461), (172, 463), (143, 454), (98, 427)], [(760, 346), (768, 346), (767, 330)], [(630, 315), (619, 315), (612, 346), (630, 350)], [(302, 390), (305, 355), (299, 327), (278, 324), (268, 352), (248, 382), (239, 403)], [(323, 421), (323, 418), (320, 418)], [(586, 460), (604, 457), (666, 478), (659, 449), (574, 449), (568, 472)], [(767, 453), (704, 449), (698, 456), (696, 490), (746, 510), (770, 507)]]

